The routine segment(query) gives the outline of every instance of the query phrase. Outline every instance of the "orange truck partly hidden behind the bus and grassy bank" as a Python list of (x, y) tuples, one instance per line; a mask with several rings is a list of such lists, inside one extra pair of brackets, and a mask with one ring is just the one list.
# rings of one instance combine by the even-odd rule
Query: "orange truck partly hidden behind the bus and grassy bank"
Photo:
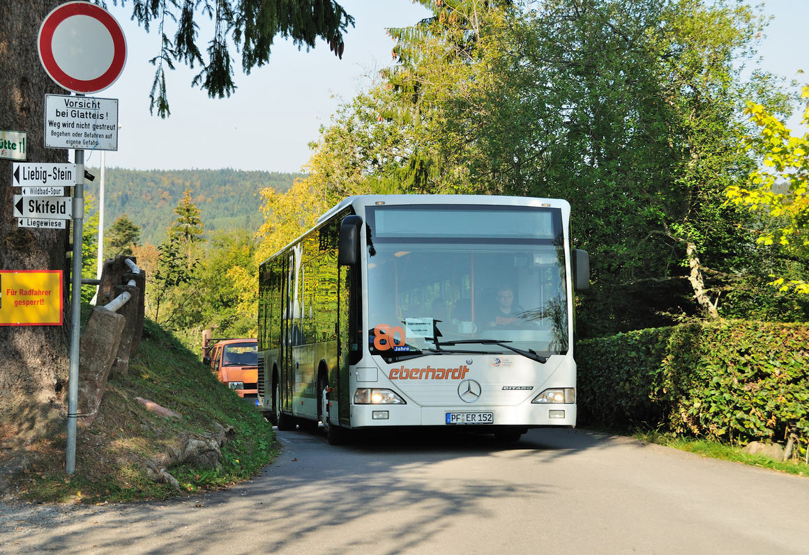
[(256, 339), (204, 338), (202, 363), (223, 384), (252, 405), (261, 406), (258, 398), (258, 342)]

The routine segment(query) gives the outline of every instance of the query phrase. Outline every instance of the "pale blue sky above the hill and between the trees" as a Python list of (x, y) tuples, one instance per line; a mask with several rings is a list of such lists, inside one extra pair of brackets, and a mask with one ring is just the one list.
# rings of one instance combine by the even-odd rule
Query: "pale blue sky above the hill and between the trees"
[[(138, 170), (301, 171), (311, 156), (309, 142), (317, 140), (341, 100), (366, 90), (379, 69), (391, 65), (394, 43), (386, 28), (407, 27), (429, 15), (409, 0), (342, 0), (356, 22), (345, 34), (341, 60), (322, 41), (307, 53), (277, 38), (269, 64), (249, 76), (235, 59), (238, 88), (229, 99), (209, 99), (190, 85), (198, 69), (177, 65), (167, 74), (172, 115), (163, 120), (149, 114), (154, 67), (148, 60), (158, 52), (156, 26), (147, 34), (129, 20), (131, 2), (123, 9), (120, 2), (108, 3), (125, 32), (127, 61), (121, 77), (94, 95), (118, 99), (118, 150), (104, 153), (105, 163)], [(760, 45), (762, 67), (809, 82), (809, 0), (765, 0), (764, 11), (773, 21)], [(794, 116), (788, 126), (796, 129), (799, 121)], [(87, 153), (87, 166), (99, 166), (100, 153)]]

